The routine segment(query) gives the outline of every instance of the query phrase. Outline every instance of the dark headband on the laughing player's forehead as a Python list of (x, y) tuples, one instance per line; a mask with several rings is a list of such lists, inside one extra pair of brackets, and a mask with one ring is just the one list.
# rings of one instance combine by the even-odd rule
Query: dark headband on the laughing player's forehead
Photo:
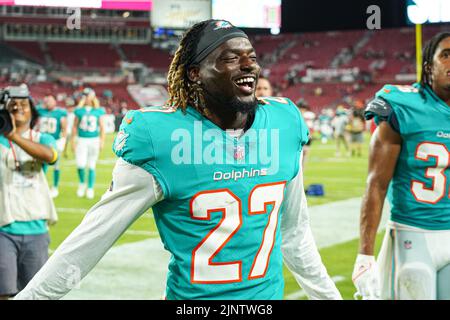
[(232, 38), (247, 38), (248, 36), (239, 28), (225, 20), (212, 20), (200, 34), (197, 48), (189, 64), (198, 64), (214, 49)]

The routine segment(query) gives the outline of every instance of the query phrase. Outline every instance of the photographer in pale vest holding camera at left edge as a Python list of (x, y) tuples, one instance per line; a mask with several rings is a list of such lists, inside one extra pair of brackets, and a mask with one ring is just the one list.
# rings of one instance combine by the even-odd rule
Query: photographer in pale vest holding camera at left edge
[(33, 130), (26, 87), (0, 90), (0, 299), (22, 290), (48, 259), (57, 221), (43, 167), (58, 160), (52, 136)]

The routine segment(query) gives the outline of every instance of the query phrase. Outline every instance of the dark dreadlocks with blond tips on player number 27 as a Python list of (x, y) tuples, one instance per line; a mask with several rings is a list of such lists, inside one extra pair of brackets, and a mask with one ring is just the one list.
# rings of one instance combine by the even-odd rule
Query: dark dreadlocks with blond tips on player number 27
[(189, 64), (197, 49), (200, 34), (211, 21), (206, 20), (194, 24), (181, 38), (167, 75), (169, 91), (167, 106), (181, 108), (183, 112), (186, 112), (189, 104), (201, 114), (205, 116), (208, 114), (203, 89), (197, 83), (189, 80), (188, 68), (191, 67)]

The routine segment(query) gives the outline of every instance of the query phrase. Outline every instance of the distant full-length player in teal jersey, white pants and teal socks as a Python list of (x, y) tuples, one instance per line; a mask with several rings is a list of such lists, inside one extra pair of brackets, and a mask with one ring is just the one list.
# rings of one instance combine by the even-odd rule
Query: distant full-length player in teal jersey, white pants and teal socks
[[(75, 109), (72, 130), (72, 148), (75, 153), (78, 169), (78, 197), (94, 198), (95, 166), (105, 143), (105, 131), (102, 116), (105, 109), (99, 106), (95, 91), (86, 88), (84, 95)], [(88, 182), (86, 190), (86, 167)]]

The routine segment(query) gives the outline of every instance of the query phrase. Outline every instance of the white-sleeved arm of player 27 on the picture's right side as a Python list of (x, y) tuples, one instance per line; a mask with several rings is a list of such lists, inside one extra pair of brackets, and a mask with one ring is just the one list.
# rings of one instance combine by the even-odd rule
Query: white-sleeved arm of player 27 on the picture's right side
[(285, 212), (281, 221), (281, 249), (286, 266), (310, 299), (342, 299), (314, 242), (301, 169), (287, 186), (285, 201)]

